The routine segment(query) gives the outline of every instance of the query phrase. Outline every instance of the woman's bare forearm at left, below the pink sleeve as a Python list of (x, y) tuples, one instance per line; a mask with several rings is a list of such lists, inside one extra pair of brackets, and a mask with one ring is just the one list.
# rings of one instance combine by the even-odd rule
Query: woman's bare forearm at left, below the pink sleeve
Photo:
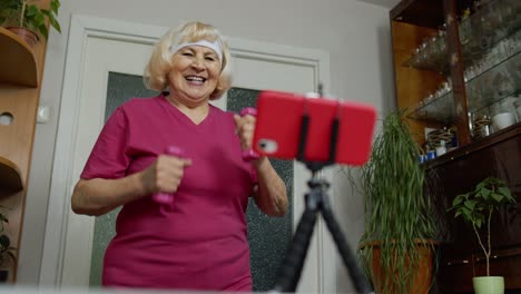
[(77, 214), (98, 216), (145, 194), (140, 174), (119, 179), (80, 179), (72, 194), (71, 208)]

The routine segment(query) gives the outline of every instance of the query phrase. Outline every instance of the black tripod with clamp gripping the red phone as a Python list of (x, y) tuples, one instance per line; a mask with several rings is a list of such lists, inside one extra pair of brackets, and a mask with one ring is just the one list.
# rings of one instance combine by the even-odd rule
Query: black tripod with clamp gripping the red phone
[[(322, 96), (322, 87), (318, 86), (318, 95)], [(344, 234), (342, 233), (338, 223), (336, 222), (333, 209), (326, 190), (330, 183), (320, 177), (320, 171), (330, 165), (335, 164), (336, 143), (338, 138), (340, 116), (333, 120), (332, 137), (330, 145), (330, 158), (326, 161), (308, 161), (304, 158), (304, 151), (307, 140), (307, 130), (309, 126), (309, 116), (305, 114), (302, 117), (301, 138), (298, 144), (297, 160), (306, 165), (312, 171), (312, 178), (307, 182), (311, 190), (305, 195), (305, 210), (298, 222), (297, 228), (293, 236), (292, 245), (283, 262), (279, 277), (272, 292), (295, 292), (301, 278), (304, 261), (309, 247), (311, 237), (315, 227), (317, 214), (322, 214), (326, 226), (333, 239), (344, 265), (353, 281), (353, 284), (358, 293), (373, 293), (366, 278), (356, 263)]]

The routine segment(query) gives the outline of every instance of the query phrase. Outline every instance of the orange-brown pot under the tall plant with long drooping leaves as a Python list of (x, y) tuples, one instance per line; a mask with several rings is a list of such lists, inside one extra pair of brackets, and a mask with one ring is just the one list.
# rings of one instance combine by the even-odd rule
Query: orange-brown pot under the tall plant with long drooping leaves
[[(429, 290), (432, 285), (432, 276), (433, 276), (433, 256), (434, 249), (432, 246), (438, 245), (438, 242), (434, 241), (425, 241), (427, 246), (421, 245), (422, 243), (417, 241), (417, 247), (420, 252), (420, 261), (417, 264), (417, 271), (415, 271), (415, 276), (412, 281), (412, 287), (407, 293), (414, 294), (427, 294)], [(372, 242), (367, 246), (372, 247), (373, 256), (371, 261), (371, 270), (372, 270), (372, 280), (375, 287), (375, 293), (402, 293), (399, 290), (399, 286), (393, 283), (392, 277), (386, 277), (389, 272), (385, 271), (380, 262), (381, 256), (381, 242)], [(409, 264), (409, 257), (405, 264)], [(391, 268), (391, 273), (395, 271), (400, 271), (401, 268)], [(383, 281), (387, 278), (387, 283), (384, 284)]]

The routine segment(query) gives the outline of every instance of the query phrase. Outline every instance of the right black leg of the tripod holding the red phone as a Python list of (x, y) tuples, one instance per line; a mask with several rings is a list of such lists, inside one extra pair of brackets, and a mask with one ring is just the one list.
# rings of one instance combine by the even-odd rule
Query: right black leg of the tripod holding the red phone
[(367, 284), (365, 276), (360, 270), (358, 264), (356, 263), (356, 258), (351, 252), (350, 245), (347, 244), (344, 234), (342, 233), (342, 229), (335, 219), (335, 216), (333, 215), (333, 210), (331, 209), (331, 205), (326, 195), (323, 197), (322, 216), (324, 217), (327, 228), (333, 235), (336, 248), (342, 256), (344, 265), (347, 267), (347, 272), (350, 273), (351, 280), (353, 281), (356, 291), (364, 294), (373, 293), (370, 285)]

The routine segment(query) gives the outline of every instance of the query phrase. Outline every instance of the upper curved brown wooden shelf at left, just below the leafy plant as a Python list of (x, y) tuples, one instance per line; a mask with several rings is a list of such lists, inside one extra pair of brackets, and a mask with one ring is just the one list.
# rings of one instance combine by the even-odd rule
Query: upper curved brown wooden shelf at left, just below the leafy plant
[(31, 48), (0, 27), (0, 82), (38, 87), (38, 66)]

